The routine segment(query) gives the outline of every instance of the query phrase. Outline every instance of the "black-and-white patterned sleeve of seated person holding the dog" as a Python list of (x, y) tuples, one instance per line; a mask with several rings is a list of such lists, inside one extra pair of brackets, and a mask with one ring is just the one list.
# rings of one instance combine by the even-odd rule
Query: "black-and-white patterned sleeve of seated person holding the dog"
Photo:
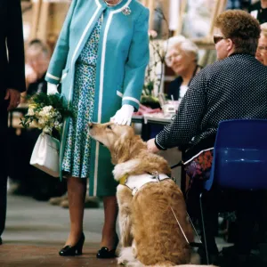
[(198, 133), (206, 113), (206, 88), (205, 73), (200, 71), (182, 98), (172, 123), (156, 136), (155, 143), (159, 150), (187, 144)]

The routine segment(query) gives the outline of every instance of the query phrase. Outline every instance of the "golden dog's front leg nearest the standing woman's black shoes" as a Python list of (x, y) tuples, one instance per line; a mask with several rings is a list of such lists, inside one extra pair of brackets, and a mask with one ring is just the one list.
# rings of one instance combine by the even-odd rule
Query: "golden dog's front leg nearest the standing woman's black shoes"
[(133, 242), (131, 222), (132, 191), (125, 185), (117, 186), (118, 224), (122, 247), (131, 247)]

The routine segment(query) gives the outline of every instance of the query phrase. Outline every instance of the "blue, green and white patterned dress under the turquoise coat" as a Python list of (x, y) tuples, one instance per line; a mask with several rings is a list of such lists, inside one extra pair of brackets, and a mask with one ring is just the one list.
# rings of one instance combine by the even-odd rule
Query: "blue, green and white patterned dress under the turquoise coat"
[(90, 170), (91, 138), (86, 127), (93, 118), (96, 61), (102, 18), (97, 21), (92, 35), (77, 60), (72, 101), (74, 117), (69, 122), (62, 170), (71, 176), (86, 178)]

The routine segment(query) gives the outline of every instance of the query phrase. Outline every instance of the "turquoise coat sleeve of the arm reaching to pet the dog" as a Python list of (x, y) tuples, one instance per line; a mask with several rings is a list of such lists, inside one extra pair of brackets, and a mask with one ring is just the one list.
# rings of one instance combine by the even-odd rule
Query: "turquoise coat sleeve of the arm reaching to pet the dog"
[(134, 26), (134, 36), (129, 50), (128, 61), (125, 64), (122, 104), (132, 105), (135, 110), (139, 109), (145, 69), (150, 60), (149, 15), (149, 10), (143, 8)]

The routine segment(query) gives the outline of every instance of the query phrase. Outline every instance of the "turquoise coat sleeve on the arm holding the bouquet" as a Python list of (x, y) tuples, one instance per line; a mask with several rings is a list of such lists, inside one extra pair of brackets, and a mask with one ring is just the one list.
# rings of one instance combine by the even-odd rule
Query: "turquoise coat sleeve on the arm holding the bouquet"
[(69, 26), (72, 20), (76, 4), (77, 0), (72, 0), (69, 7), (69, 12), (64, 21), (63, 27), (61, 28), (61, 34), (58, 38), (57, 44), (53, 51), (52, 59), (50, 61), (48, 70), (46, 72), (45, 80), (48, 83), (54, 85), (60, 84), (62, 70), (66, 66), (69, 53)]

